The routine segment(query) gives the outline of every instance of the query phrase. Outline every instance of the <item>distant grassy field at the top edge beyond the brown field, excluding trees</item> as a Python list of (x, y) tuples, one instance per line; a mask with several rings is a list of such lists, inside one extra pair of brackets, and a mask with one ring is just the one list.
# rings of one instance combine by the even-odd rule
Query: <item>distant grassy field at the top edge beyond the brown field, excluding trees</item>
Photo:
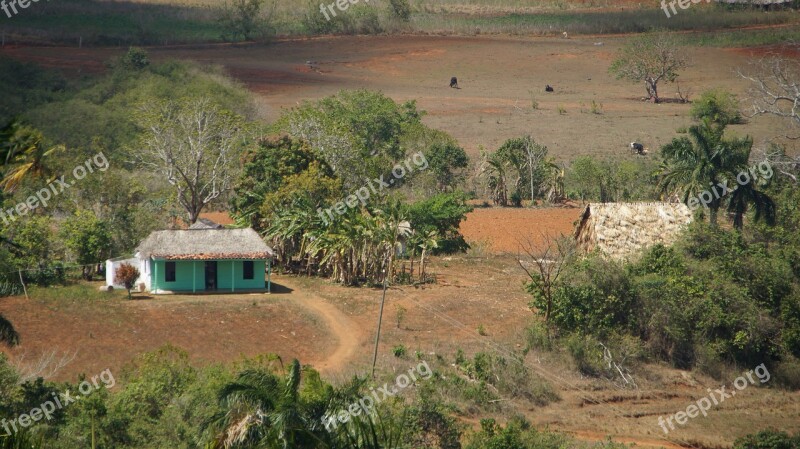
[[(82, 45), (169, 45), (222, 42), (225, 29), (217, 0), (58, 0), (39, 3), (12, 18), (0, 14), (0, 33), (6, 44), (61, 43)], [(358, 6), (365, 5), (361, 2)], [(711, 31), (800, 24), (795, 11), (731, 10), (716, 4), (698, 4), (666, 18), (659, 3), (636, 0), (427, 0), (412, 1), (410, 22), (390, 16), (387, 2), (364, 8), (376, 14), (372, 33), (447, 35), (638, 33), (656, 28)], [(309, 34), (308, 17), (319, 14), (319, 2), (277, 1), (272, 27), (259, 39)], [(355, 14), (352, 11), (350, 14)], [(359, 33), (356, 26), (351, 31)], [(777, 43), (785, 37), (756, 33), (756, 43)], [(749, 36), (749, 35), (748, 35)], [(748, 37), (745, 37), (745, 40)], [(734, 45), (741, 45), (741, 39)]]

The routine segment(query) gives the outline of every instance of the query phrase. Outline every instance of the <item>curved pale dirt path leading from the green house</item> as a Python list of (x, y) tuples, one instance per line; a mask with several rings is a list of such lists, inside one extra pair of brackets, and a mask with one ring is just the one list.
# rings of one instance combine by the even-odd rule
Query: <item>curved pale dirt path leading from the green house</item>
[(310, 313), (320, 317), (331, 334), (337, 340), (336, 349), (322, 360), (310, 360), (311, 364), (320, 373), (332, 374), (343, 371), (355, 358), (361, 346), (361, 329), (347, 315), (328, 301), (308, 293), (306, 288), (294, 285), (291, 280), (284, 278), (281, 283), (292, 290), (292, 300), (299, 306), (305, 307)]

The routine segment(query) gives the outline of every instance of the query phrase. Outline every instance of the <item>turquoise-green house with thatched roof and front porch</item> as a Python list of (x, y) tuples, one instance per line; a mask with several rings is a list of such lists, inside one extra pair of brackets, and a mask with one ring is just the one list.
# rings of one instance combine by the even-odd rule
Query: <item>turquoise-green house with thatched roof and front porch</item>
[(136, 249), (152, 293), (269, 292), (272, 249), (251, 228), (156, 231)]

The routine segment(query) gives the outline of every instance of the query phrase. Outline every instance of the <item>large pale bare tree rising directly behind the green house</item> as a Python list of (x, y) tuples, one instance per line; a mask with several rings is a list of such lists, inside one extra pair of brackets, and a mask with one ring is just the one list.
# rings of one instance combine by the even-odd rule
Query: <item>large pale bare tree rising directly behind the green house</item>
[(243, 143), (240, 117), (207, 99), (150, 103), (141, 108), (144, 131), (137, 162), (177, 189), (190, 223), (231, 189)]

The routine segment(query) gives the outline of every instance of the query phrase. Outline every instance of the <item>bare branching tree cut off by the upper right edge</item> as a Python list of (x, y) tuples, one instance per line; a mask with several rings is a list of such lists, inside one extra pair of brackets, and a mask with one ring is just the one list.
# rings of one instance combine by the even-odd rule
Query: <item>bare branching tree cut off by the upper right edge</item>
[(792, 128), (800, 127), (800, 61), (770, 55), (755, 62), (750, 73), (739, 70), (739, 76), (752, 83), (750, 117), (773, 115), (787, 119)]

